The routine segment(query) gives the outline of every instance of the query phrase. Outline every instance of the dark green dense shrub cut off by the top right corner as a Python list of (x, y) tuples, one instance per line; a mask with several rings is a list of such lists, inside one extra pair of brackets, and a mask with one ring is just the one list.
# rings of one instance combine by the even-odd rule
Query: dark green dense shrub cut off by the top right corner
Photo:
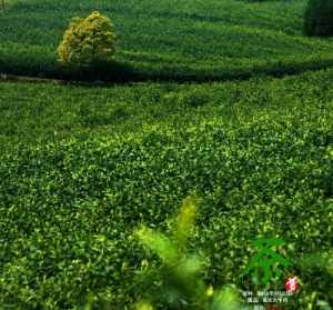
[(333, 0), (310, 0), (304, 13), (304, 33), (333, 36)]

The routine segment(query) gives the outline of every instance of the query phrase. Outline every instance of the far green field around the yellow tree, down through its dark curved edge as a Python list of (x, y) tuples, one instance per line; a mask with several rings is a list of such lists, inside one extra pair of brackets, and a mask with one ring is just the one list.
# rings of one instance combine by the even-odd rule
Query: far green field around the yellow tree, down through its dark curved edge
[[(17, 1), (0, 18), (0, 71), (113, 81), (206, 81), (332, 66), (332, 40), (302, 37), (305, 1)], [(115, 63), (70, 74), (56, 49), (73, 16), (99, 9), (119, 34)], [(47, 30), (46, 30), (47, 29)]]

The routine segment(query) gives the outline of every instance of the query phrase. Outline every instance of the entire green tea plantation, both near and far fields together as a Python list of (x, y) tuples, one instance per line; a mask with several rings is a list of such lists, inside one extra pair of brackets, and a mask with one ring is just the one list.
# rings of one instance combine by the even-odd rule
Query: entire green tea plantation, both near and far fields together
[[(284, 291), (296, 276), (296, 300), (282, 309), (332, 310), (333, 39), (303, 36), (305, 4), (7, 0), (0, 310), (153, 310), (137, 307), (151, 294), (161, 297), (154, 310), (198, 310), (157, 293), (163, 260), (134, 233), (172, 233), (189, 196), (199, 201), (189, 249), (204, 258), (204, 296), (228, 284), (240, 297), (258, 291), (244, 277), (252, 242), (274, 237), (290, 266), (260, 289)], [(78, 82), (89, 77), (57, 62), (70, 19), (93, 10), (118, 36), (103, 83)], [(188, 271), (199, 264), (191, 258)]]

